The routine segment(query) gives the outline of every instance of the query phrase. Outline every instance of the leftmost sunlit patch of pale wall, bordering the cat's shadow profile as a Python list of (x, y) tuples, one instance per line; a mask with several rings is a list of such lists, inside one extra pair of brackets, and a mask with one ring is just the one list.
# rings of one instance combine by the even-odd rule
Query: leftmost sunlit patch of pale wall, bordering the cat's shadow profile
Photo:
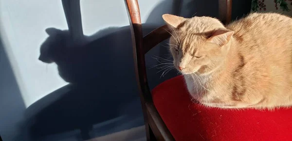
[(1, 37), (26, 107), (64, 85), (55, 64), (38, 61), (47, 27), (66, 29), (61, 0), (2, 0)]

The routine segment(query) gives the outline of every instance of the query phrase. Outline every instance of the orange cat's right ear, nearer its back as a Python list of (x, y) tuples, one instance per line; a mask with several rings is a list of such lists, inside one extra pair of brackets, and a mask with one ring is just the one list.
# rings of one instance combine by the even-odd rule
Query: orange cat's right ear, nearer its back
[(233, 34), (234, 34), (234, 31), (220, 28), (213, 31), (211, 35), (209, 35), (208, 40), (209, 42), (213, 44), (217, 44), (218, 46), (221, 47), (221, 46), (226, 45), (229, 42)]

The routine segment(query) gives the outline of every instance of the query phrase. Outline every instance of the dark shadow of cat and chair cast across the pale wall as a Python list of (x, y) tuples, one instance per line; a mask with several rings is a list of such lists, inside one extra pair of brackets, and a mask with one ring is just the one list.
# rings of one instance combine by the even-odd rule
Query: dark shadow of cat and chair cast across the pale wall
[[(218, 3), (205, 0), (184, 0), (183, 9), (164, 0), (158, 4), (146, 23), (143, 24), (144, 35), (164, 24), (164, 13), (191, 17), (208, 15), (218, 17)], [(217, 2), (217, 1), (216, 1)], [(202, 5), (208, 5), (207, 8)], [(166, 7), (166, 8), (165, 8)], [(172, 8), (169, 8), (172, 7)], [(165, 9), (162, 9), (165, 8)], [(181, 11), (181, 14), (180, 14)], [(156, 24), (153, 24), (156, 23)], [(48, 38), (41, 52), (44, 62), (54, 61), (58, 65), (60, 76), (71, 84), (48, 94), (32, 104), (26, 110), (26, 122), (31, 137), (38, 141), (43, 136), (81, 129), (83, 140), (89, 136), (92, 126), (115, 117), (126, 115), (130, 118), (142, 118), (129, 26), (110, 27), (87, 37), (88, 44), (82, 47), (68, 46), (68, 32), (60, 31)], [(56, 38), (58, 37), (58, 38)], [(151, 49), (146, 54), (147, 76), (150, 89), (168, 78), (177, 75), (176, 70), (160, 78), (159, 70), (151, 66), (158, 64), (154, 55), (168, 58), (165, 43)], [(23, 103), (23, 102), (22, 102)], [(143, 125), (143, 121), (133, 123), (132, 127)], [(129, 128), (129, 126), (128, 126)], [(101, 131), (102, 132), (102, 131)]]

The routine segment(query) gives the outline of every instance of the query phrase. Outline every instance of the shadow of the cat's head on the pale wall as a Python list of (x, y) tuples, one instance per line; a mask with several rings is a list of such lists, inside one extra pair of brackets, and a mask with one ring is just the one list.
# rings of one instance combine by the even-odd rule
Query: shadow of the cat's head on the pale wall
[(67, 38), (70, 37), (70, 32), (55, 28), (47, 28), (46, 32), (49, 37), (40, 46), (38, 60), (44, 63), (53, 63), (64, 55), (63, 53), (67, 46)]

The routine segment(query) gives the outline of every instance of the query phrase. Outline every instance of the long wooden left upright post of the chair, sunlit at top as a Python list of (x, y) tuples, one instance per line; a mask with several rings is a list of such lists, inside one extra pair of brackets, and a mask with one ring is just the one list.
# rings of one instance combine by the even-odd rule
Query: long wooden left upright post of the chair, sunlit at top
[(146, 129), (146, 140), (156, 141), (148, 121), (148, 110), (146, 109), (146, 101), (151, 100), (151, 94), (147, 83), (145, 53), (143, 50), (143, 32), (140, 18), (140, 10), (137, 0), (124, 0), (127, 8), (129, 24), (131, 29), (133, 57), (135, 65), (135, 74), (138, 83), (138, 91), (144, 116), (144, 124)]

